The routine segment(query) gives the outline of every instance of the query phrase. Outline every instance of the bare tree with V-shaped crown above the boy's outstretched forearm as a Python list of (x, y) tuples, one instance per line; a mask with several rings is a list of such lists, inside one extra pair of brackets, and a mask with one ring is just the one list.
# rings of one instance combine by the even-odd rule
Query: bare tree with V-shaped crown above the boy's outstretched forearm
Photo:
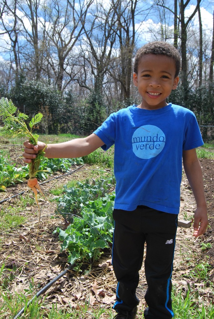
[[(46, 30), (49, 42), (47, 63), (60, 91), (68, 85), (67, 82), (63, 86), (65, 73), (72, 73), (72, 65), (69, 65), (68, 59), (83, 32), (87, 11), (92, 2), (93, 0), (67, 0), (65, 2), (54, 0), (48, 10), (50, 27)], [(71, 79), (72, 77), (70, 81)]]

